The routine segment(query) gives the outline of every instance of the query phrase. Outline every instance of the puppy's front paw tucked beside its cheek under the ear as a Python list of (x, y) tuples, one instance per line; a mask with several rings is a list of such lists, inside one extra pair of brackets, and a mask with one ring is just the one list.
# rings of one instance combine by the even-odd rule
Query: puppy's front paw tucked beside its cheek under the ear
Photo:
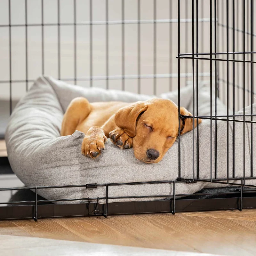
[(109, 138), (119, 148), (132, 148), (133, 139), (129, 137), (122, 129), (116, 129), (109, 132)]

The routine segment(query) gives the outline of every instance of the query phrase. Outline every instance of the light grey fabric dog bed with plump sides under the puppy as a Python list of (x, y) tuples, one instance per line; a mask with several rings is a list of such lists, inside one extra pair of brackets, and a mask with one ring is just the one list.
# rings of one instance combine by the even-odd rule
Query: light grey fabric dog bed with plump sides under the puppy
[[(192, 112), (192, 86), (181, 89), (181, 106)], [(83, 88), (68, 85), (51, 77), (39, 77), (29, 92), (14, 109), (7, 129), (6, 145), (8, 158), (14, 173), (26, 186), (62, 186), (87, 183), (122, 183), (175, 180), (178, 177), (178, 143), (175, 142), (163, 160), (158, 164), (145, 164), (134, 157), (133, 150), (120, 150), (109, 140), (104, 153), (97, 159), (81, 154), (84, 133), (76, 131), (70, 136), (60, 137), (63, 114), (69, 102), (84, 96), (90, 102), (147, 100), (154, 96), (139, 95), (122, 91)], [(178, 92), (169, 92), (160, 97), (178, 103)], [(210, 115), (210, 91), (204, 84), (199, 86), (199, 115)], [(214, 103), (214, 101), (213, 101)], [(213, 108), (214, 111), (214, 108)], [(243, 112), (238, 112), (243, 114)], [(246, 108), (250, 113), (250, 107)], [(255, 113), (255, 105), (253, 105)], [(217, 99), (217, 114), (225, 115), (226, 107)], [(239, 117), (242, 119), (243, 117)], [(248, 117), (249, 120), (249, 117)], [(256, 118), (253, 117), (255, 121)], [(213, 122), (214, 123), (214, 122)], [(243, 123), (235, 123), (236, 133), (236, 177), (243, 177)], [(199, 125), (199, 178), (210, 178), (210, 121)], [(232, 136), (233, 126), (229, 124), (229, 176), (232, 177)], [(253, 139), (256, 138), (255, 129)], [(213, 127), (214, 140), (214, 127)], [(250, 124), (246, 124), (246, 176), (251, 172)], [(217, 168), (218, 178), (227, 176), (227, 122), (217, 121)], [(255, 140), (255, 139), (254, 139)], [(255, 144), (253, 144), (255, 152)], [(196, 129), (195, 129), (196, 145)], [(195, 146), (196, 149), (196, 146)], [(213, 143), (214, 159), (214, 143)], [(254, 157), (255, 159), (255, 157)], [(195, 152), (196, 160), (196, 152)], [(256, 166), (256, 164), (254, 164)], [(213, 161), (214, 170), (214, 161)], [(196, 161), (195, 161), (196, 172)], [(213, 171), (214, 172), (214, 171)], [(255, 172), (254, 172), (255, 173)], [(181, 136), (181, 177), (192, 178), (192, 132)], [(240, 181), (239, 181), (240, 182)], [(252, 184), (248, 180), (248, 184)], [(172, 183), (110, 186), (108, 196), (154, 196), (172, 195)], [(176, 194), (195, 193), (207, 187), (220, 184), (197, 182), (176, 184)], [(51, 188), (38, 189), (38, 194), (48, 200), (68, 198), (104, 197), (105, 187), (97, 188)], [(165, 199), (165, 197), (157, 198)], [(110, 199), (113, 201), (156, 200), (151, 198)], [(104, 202), (102, 200), (101, 202)], [(59, 202), (61, 203), (61, 202)]]

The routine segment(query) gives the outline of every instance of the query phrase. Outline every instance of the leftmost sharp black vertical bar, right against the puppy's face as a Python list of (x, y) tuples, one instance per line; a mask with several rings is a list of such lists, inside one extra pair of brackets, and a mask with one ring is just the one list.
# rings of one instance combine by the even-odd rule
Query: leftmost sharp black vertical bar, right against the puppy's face
[[(178, 56), (180, 57), (180, 0), (178, 0)], [(178, 178), (180, 179), (180, 58), (178, 59), (178, 112), (179, 112)]]

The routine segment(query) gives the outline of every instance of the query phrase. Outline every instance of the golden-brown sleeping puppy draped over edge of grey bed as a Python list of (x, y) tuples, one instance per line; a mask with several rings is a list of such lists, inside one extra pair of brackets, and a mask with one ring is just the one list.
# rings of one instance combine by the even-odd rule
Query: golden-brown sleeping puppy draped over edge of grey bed
[[(180, 114), (192, 116), (185, 108)], [(83, 97), (72, 100), (61, 126), (61, 136), (84, 132), (82, 154), (100, 156), (107, 138), (119, 148), (132, 148), (145, 163), (158, 163), (179, 133), (178, 106), (171, 100), (154, 98), (135, 103), (94, 102)], [(199, 124), (202, 122), (198, 120)], [(196, 120), (195, 120), (196, 127)], [(181, 134), (191, 131), (192, 118), (180, 119)]]

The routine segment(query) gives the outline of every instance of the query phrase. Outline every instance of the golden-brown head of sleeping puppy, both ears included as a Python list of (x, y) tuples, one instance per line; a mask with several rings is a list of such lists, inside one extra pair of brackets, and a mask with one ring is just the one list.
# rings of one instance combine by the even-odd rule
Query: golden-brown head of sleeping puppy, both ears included
[[(183, 116), (192, 116), (180, 108)], [(121, 108), (115, 116), (118, 127), (133, 138), (134, 155), (145, 163), (158, 163), (177, 139), (179, 133), (178, 106), (171, 100), (138, 101)], [(198, 120), (199, 124), (202, 119)], [(196, 121), (195, 121), (196, 127)], [(181, 134), (193, 129), (192, 118), (180, 119)]]

